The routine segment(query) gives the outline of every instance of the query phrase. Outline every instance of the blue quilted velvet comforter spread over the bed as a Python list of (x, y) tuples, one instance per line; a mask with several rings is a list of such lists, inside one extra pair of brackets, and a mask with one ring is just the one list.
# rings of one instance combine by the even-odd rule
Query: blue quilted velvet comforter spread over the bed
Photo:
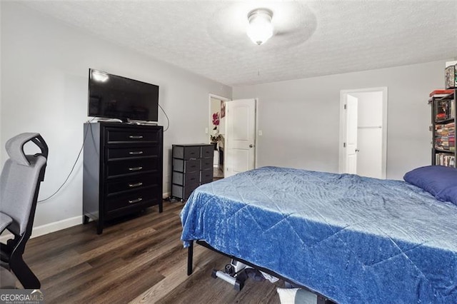
[(403, 181), (263, 167), (200, 186), (181, 221), (184, 245), (338, 303), (457, 303), (457, 206)]

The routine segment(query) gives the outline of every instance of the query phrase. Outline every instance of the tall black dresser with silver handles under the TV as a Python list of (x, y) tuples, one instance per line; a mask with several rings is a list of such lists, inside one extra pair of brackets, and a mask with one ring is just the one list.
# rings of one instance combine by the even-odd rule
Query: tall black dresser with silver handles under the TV
[(84, 123), (83, 220), (105, 221), (159, 205), (163, 127)]

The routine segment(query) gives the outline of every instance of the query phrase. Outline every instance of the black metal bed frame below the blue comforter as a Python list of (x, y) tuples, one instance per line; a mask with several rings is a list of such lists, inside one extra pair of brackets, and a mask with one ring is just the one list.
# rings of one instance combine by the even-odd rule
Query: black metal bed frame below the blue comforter
[[(251, 266), (252, 268), (255, 268), (257, 270), (261, 270), (264, 273), (268, 273), (268, 275), (273, 275), (273, 277), (279, 278), (279, 279), (283, 280), (284, 282), (287, 282), (287, 283), (291, 284), (293, 287), (303, 288), (305, 290), (310, 291), (311, 293), (316, 294), (317, 295), (317, 303), (316, 304), (336, 304), (332, 300), (326, 298), (324, 295), (321, 295), (320, 293), (316, 293), (315, 291), (310, 290), (306, 286), (303, 286), (301, 284), (292, 282), (290, 279), (284, 278), (282, 275), (279, 275), (278, 273), (275, 273), (273, 270), (269, 270), (267, 268), (263, 268), (261, 266), (255, 265), (255, 264), (253, 264), (251, 262), (248, 262), (247, 260), (243, 260), (241, 258), (237, 258), (234, 255), (229, 255), (227, 253), (223, 253), (222, 251), (217, 250), (216, 248), (214, 248), (211, 245), (209, 245), (209, 243), (206, 243), (204, 240), (195, 240), (195, 243), (197, 243), (199, 245), (202, 245), (202, 246), (204, 246), (204, 247), (206, 247), (208, 249), (211, 249), (213, 251), (216, 251), (216, 253), (219, 253), (221, 255), (225, 255), (226, 257), (231, 258), (233, 260), (238, 260), (238, 262), (241, 262), (243, 264)], [(191, 240), (189, 242), (189, 247), (187, 248), (187, 250), (188, 250), (187, 251), (187, 275), (191, 275), (192, 271), (193, 271), (193, 260), (194, 260), (194, 240)]]

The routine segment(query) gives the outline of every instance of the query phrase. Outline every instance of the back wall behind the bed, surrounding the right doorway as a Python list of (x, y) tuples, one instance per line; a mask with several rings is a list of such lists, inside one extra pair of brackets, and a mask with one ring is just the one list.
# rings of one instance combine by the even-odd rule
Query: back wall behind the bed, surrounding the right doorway
[(431, 163), (427, 100), (443, 88), (444, 62), (239, 86), (233, 99), (258, 98), (258, 166), (338, 172), (340, 91), (387, 86), (386, 177), (401, 179)]

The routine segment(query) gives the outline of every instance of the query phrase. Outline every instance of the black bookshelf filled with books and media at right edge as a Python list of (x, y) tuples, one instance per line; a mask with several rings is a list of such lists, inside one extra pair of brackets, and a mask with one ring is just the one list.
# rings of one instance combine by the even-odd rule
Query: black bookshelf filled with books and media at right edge
[(431, 164), (456, 168), (456, 95), (452, 93), (435, 94), (428, 103), (431, 104), (432, 148)]

